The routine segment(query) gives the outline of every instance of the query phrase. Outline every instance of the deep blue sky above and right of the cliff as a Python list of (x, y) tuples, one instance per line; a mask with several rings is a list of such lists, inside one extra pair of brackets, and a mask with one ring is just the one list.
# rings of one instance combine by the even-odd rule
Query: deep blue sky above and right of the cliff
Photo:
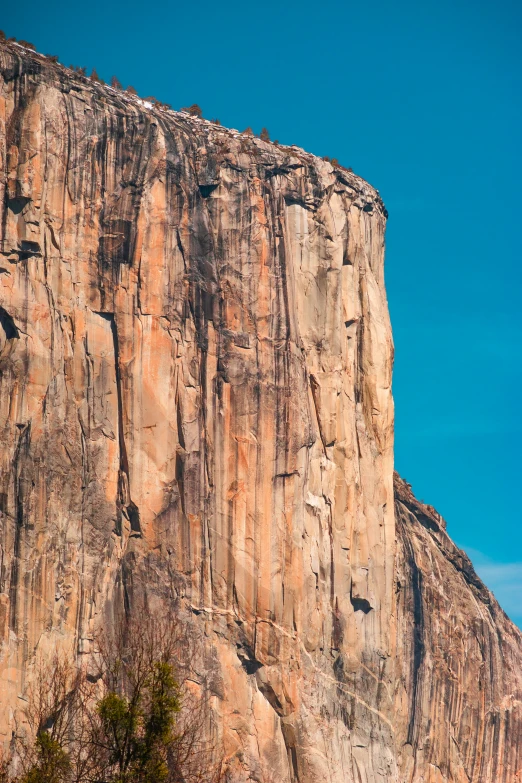
[(380, 190), (396, 467), (522, 626), (522, 5), (25, 0), (0, 27)]

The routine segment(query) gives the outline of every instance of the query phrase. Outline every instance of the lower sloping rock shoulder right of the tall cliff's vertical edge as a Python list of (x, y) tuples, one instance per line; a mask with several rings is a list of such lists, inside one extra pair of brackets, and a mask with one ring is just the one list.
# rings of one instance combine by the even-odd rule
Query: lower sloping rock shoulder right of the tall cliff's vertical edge
[(395, 476), (400, 780), (522, 779), (522, 634)]

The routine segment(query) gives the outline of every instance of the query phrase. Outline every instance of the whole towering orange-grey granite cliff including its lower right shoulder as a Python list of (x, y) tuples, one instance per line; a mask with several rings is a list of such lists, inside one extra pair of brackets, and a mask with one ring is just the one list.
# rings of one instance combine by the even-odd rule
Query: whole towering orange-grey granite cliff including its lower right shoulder
[(37, 652), (174, 610), (230, 781), (518, 780), (521, 635), (394, 493), (376, 191), (0, 65), (0, 740)]

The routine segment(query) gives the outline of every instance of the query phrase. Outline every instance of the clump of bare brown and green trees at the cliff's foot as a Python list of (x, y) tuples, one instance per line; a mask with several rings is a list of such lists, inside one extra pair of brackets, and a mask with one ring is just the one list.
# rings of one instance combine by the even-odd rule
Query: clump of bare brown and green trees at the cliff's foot
[(180, 638), (168, 619), (125, 621), (98, 637), (88, 670), (61, 655), (40, 665), (17, 739), (21, 770), (0, 764), (0, 783), (222, 780), (205, 702), (180, 684)]

